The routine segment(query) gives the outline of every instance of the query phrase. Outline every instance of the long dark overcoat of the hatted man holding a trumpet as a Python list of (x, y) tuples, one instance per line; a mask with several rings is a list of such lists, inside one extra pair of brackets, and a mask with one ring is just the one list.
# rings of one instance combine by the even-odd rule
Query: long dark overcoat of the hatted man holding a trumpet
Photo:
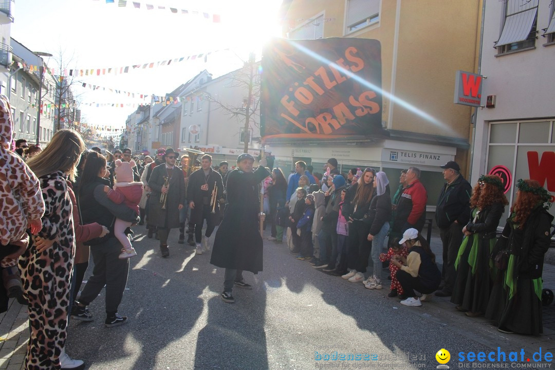
[[(160, 195), (165, 178), (168, 176), (166, 165), (161, 164), (152, 170), (148, 186), (152, 189), (148, 205), (148, 223), (151, 226), (166, 227), (175, 229), (179, 227), (179, 208), (180, 204), (185, 207), (185, 180), (183, 171), (178, 166), (174, 166), (173, 174), (169, 182), (169, 191), (166, 199), (166, 209), (162, 209)], [(167, 219), (167, 220), (166, 220)], [(167, 223), (166, 223), (167, 221)]]

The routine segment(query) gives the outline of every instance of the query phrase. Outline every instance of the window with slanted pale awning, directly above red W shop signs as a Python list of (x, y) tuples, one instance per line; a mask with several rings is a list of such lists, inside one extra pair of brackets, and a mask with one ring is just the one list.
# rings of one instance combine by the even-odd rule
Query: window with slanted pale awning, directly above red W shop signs
[(537, 12), (538, 0), (506, 0), (503, 31), (495, 45), (498, 54), (534, 47)]

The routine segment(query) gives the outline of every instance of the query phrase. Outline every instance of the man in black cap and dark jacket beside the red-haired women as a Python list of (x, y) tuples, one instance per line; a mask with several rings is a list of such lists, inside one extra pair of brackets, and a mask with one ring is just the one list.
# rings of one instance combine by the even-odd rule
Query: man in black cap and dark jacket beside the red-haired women
[(470, 195), (472, 186), (462, 177), (460, 166), (455, 161), (448, 161), (440, 166), (443, 169), (443, 185), (437, 199), (436, 222), (440, 228), (443, 244), (442, 290), (436, 292), (438, 297), (451, 296), (455, 285), (455, 260), (462, 243), (462, 228), (470, 220)]

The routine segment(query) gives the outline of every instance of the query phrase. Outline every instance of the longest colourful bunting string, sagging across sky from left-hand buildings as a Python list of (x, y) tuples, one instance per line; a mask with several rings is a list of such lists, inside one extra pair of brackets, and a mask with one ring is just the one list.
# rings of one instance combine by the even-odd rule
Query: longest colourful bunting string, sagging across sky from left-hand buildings
[[(52, 75), (76, 76), (76, 77), (94, 77), (94, 76), (107, 75), (107, 74), (118, 75), (118, 74), (129, 73), (130, 71), (133, 71), (135, 69), (147, 69), (147, 68), (150, 69), (154, 67), (163, 67), (164, 65), (190, 62), (192, 60), (203, 59), (203, 58), (204, 58), (204, 63), (206, 63), (206, 61), (208, 60), (208, 56), (210, 54), (219, 53), (223, 51), (225, 52), (229, 50), (230, 50), (229, 48), (226, 48), (223, 50), (212, 50), (207, 53), (188, 55), (187, 57), (166, 59), (160, 62), (149, 62), (149, 63), (143, 63), (143, 64), (127, 65), (125, 67), (112, 67), (112, 68), (97, 67), (97, 68), (87, 68), (87, 69), (48, 68), (48, 72), (51, 73)], [(28, 66), (29, 66), (29, 70), (34, 70), (34, 71), (39, 70), (37, 65), (28, 64)]]

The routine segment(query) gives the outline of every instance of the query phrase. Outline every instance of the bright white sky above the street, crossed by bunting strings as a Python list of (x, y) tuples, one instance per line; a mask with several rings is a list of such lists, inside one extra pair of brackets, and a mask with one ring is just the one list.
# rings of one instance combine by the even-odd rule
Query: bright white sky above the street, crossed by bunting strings
[[(134, 64), (205, 54), (229, 48), (204, 59), (173, 63), (128, 74), (79, 78), (79, 82), (143, 94), (164, 95), (206, 69), (218, 77), (241, 66), (249, 52), (260, 58), (264, 41), (280, 36), (278, 9), (281, 0), (139, 0), (140, 9), (118, 0), (17, 0), (11, 34), (33, 52), (54, 55), (44, 58), (48, 67), (59, 67), (59, 55), (68, 69), (125, 67)], [(147, 10), (146, 4), (153, 4)], [(158, 6), (165, 6), (159, 10)], [(177, 8), (171, 13), (169, 7)], [(210, 19), (193, 14), (209, 13)], [(220, 23), (211, 21), (219, 14)], [(130, 68), (132, 69), (132, 68)], [(92, 91), (77, 84), (75, 94), (83, 103), (138, 103), (123, 94)], [(137, 95), (136, 95), (137, 96)], [(149, 100), (144, 103), (150, 103)], [(82, 115), (89, 124), (123, 128), (132, 107), (96, 108), (83, 104)]]

